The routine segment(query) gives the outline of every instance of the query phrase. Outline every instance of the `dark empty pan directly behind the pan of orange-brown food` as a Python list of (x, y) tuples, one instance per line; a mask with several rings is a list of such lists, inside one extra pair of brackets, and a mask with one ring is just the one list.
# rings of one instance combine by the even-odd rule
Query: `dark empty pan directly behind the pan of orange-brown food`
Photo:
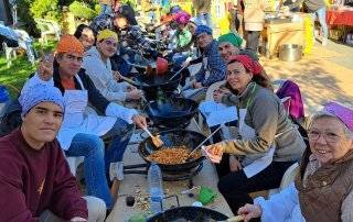
[(154, 125), (167, 129), (184, 127), (197, 113), (199, 104), (194, 100), (170, 97), (165, 100), (150, 101), (145, 112)]

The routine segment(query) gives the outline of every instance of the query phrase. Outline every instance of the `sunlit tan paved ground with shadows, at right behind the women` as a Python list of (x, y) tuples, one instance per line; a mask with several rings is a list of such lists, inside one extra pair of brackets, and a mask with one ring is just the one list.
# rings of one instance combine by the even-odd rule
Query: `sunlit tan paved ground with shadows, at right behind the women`
[(261, 57), (261, 64), (271, 78), (291, 79), (300, 86), (306, 114), (310, 114), (330, 100), (353, 107), (352, 55), (353, 47), (333, 42), (323, 47), (317, 43), (312, 53), (299, 62)]

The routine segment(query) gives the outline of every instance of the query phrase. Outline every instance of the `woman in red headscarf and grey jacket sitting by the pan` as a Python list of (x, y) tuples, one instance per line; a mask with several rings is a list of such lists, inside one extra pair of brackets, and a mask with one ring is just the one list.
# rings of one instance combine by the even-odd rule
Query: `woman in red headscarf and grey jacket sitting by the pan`
[(223, 153), (231, 157), (231, 171), (220, 178), (218, 189), (234, 213), (248, 195), (278, 188), (289, 166), (300, 159), (306, 144), (293, 127), (279, 98), (268, 88), (260, 66), (246, 55), (231, 57), (226, 79), (233, 93), (223, 100), (236, 106), (238, 137), (207, 146), (211, 160), (220, 163)]

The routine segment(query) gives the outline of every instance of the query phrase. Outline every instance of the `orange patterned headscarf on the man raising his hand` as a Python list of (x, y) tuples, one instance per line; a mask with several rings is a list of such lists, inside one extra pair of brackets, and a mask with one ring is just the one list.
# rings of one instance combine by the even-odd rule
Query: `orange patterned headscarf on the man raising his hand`
[(76, 53), (84, 56), (85, 48), (83, 44), (74, 35), (63, 35), (56, 46), (58, 53)]

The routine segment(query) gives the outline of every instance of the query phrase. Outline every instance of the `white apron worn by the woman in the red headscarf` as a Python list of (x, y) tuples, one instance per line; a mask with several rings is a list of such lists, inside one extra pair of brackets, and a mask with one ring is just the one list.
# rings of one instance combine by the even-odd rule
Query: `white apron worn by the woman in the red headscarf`
[[(245, 123), (246, 112), (247, 109), (239, 110), (239, 134), (242, 140), (252, 140), (255, 138), (256, 132)], [(266, 153), (246, 155), (242, 162), (242, 165), (245, 166), (243, 169), (246, 177), (250, 178), (268, 167), (272, 163), (274, 153), (275, 147), (271, 145)]]

